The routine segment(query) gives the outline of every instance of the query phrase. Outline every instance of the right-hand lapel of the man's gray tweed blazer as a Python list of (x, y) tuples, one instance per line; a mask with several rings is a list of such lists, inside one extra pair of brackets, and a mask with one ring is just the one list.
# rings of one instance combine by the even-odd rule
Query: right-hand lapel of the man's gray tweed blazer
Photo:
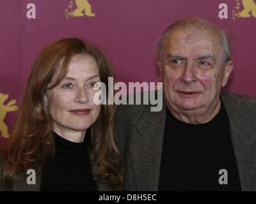
[(244, 117), (240, 113), (241, 108), (234, 105), (234, 101), (228, 98), (225, 92), (221, 93), (221, 99), (223, 99), (228, 115), (241, 189), (242, 191), (256, 191), (255, 135), (244, 121)]

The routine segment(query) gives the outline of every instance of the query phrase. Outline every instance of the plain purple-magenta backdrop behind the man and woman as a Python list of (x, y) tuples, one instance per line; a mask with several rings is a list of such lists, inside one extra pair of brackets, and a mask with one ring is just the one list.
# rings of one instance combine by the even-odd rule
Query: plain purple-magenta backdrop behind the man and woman
[[(246, 18), (232, 18), (233, 10), (243, 10), (242, 0), (88, 0), (95, 17), (67, 18), (65, 10), (70, 11), (68, 5), (74, 1), (1, 0), (0, 94), (9, 95), (4, 104), (0, 101), (1, 115), (10, 100), (19, 101), (38, 52), (59, 38), (74, 36), (99, 45), (115, 66), (116, 81), (157, 82), (155, 42), (169, 24), (187, 15), (208, 18), (232, 33), (234, 71), (227, 89), (256, 96), (255, 11)], [(255, 0), (249, 1), (256, 8)], [(35, 19), (27, 18), (29, 3), (36, 6)], [(228, 19), (219, 18), (220, 3), (228, 5)], [(241, 4), (236, 8), (237, 3)], [(6, 124), (10, 132), (13, 115), (7, 112), (3, 121), (0, 117), (0, 127)]]

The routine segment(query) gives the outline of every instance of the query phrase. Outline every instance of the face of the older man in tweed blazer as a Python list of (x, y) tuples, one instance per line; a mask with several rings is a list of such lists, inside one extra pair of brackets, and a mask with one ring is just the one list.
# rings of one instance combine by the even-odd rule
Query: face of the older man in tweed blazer
[(223, 66), (221, 43), (209, 31), (173, 31), (165, 41), (160, 67), (164, 98), (175, 110), (199, 110), (217, 103), (232, 62)]

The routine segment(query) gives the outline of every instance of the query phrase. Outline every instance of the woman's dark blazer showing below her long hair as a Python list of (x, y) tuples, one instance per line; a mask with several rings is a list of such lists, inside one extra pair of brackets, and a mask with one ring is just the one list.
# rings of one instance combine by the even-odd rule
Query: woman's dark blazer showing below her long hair
[[(3, 183), (1, 177), (3, 176), (3, 164), (0, 164), (0, 191), (40, 191), (42, 173), (36, 175), (36, 184), (27, 184), (27, 177), (29, 175), (22, 174), (13, 179), (13, 185), (9, 186)], [(114, 189), (105, 182), (97, 182), (98, 191), (114, 191)]]

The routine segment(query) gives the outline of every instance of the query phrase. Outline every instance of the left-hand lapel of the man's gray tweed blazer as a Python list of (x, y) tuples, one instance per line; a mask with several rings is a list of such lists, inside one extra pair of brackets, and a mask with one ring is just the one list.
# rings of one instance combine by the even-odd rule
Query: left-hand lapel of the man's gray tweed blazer
[[(161, 112), (150, 112), (150, 108), (136, 122), (131, 133), (129, 154), (136, 186), (140, 191), (157, 191), (161, 165), (161, 154), (166, 118), (166, 106)], [(135, 135), (135, 136), (134, 136)]]

